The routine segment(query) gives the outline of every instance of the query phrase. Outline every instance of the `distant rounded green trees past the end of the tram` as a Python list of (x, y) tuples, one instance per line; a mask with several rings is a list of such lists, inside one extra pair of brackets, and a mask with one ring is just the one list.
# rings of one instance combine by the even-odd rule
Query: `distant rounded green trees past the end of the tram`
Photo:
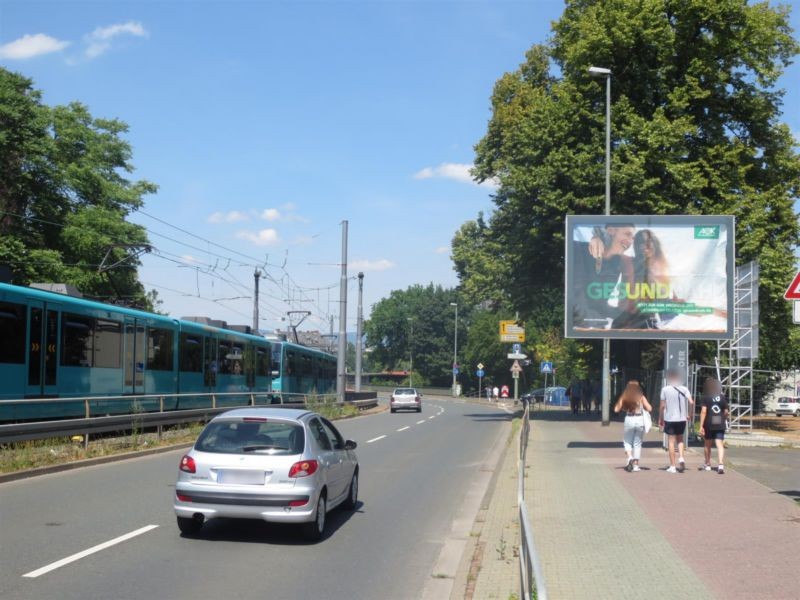
[[(458, 302), (455, 290), (433, 284), (394, 290), (380, 300), (364, 326), (371, 364), (387, 370), (409, 370), (413, 351), (415, 383), (450, 385), (455, 323), (451, 302)], [(469, 320), (466, 306), (459, 305), (458, 317), (463, 343)]]

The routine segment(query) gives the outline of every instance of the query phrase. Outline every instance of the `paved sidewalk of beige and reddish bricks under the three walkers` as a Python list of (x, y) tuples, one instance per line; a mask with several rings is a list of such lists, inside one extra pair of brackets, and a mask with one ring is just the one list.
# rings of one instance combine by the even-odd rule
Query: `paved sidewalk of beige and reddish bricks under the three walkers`
[(798, 597), (796, 503), (732, 469), (698, 471), (695, 452), (666, 473), (656, 431), (628, 473), (621, 439), (621, 423), (532, 415), (525, 495), (550, 598)]

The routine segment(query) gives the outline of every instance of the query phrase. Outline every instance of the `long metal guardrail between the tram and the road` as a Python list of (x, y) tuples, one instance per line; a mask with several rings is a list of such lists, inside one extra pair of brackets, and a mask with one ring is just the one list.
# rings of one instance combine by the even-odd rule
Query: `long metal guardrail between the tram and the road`
[[(218, 406), (219, 401), (226, 398), (246, 397), (246, 404)], [(206, 398), (209, 406), (188, 409), (164, 409), (168, 400), (189, 399), (197, 400)], [(41, 440), (54, 437), (68, 437), (82, 435), (84, 446), (88, 446), (89, 436), (109, 431), (124, 431), (134, 428), (156, 427), (158, 437), (161, 439), (162, 428), (165, 425), (178, 425), (183, 423), (196, 423), (208, 421), (211, 417), (234, 408), (248, 406), (269, 406), (272, 408), (304, 408), (309, 404), (338, 404), (336, 394), (307, 395), (283, 394), (279, 392), (230, 392), (213, 394), (147, 394), (141, 396), (92, 396), (81, 398), (36, 398), (28, 400), (4, 400), (3, 403), (58, 403), (76, 402), (83, 403), (84, 416), (77, 419), (60, 419), (55, 421), (35, 421), (28, 423), (14, 423), (0, 425), (0, 443), (21, 442), (28, 440)], [(258, 399), (268, 402), (257, 402)], [(275, 402), (278, 399), (278, 402)], [(159, 409), (147, 412), (134, 412), (118, 415), (92, 415), (92, 405), (98, 403), (114, 402), (158, 402)], [(347, 401), (345, 404), (355, 406), (359, 410), (366, 410), (377, 406), (378, 399), (362, 399)], [(105, 411), (107, 412), (107, 407)]]

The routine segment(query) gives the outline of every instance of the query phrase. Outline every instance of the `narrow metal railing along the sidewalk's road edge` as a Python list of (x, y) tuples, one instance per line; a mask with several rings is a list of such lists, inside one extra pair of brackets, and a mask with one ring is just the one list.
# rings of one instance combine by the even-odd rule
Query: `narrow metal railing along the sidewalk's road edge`
[(522, 413), (522, 426), (519, 432), (519, 477), (517, 479), (517, 506), (519, 509), (519, 566), (520, 595), (522, 600), (547, 600), (547, 588), (542, 574), (542, 565), (533, 541), (533, 528), (528, 517), (528, 505), (525, 503), (525, 459), (528, 453), (528, 436), (530, 435), (530, 404), (526, 404)]

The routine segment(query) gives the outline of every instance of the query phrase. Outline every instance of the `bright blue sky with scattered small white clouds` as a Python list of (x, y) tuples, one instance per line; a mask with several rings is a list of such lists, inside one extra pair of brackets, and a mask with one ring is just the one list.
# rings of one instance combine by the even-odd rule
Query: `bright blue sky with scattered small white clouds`
[[(788, 3), (794, 5), (795, 3)], [(0, 65), (50, 105), (129, 125), (140, 279), (175, 317), (338, 330), (341, 223), (364, 312), (391, 290), (458, 283), (450, 242), (492, 210), (469, 176), (495, 81), (563, 2), (0, 0)], [(795, 29), (800, 16), (792, 15)], [(784, 119), (800, 137), (800, 66)]]

